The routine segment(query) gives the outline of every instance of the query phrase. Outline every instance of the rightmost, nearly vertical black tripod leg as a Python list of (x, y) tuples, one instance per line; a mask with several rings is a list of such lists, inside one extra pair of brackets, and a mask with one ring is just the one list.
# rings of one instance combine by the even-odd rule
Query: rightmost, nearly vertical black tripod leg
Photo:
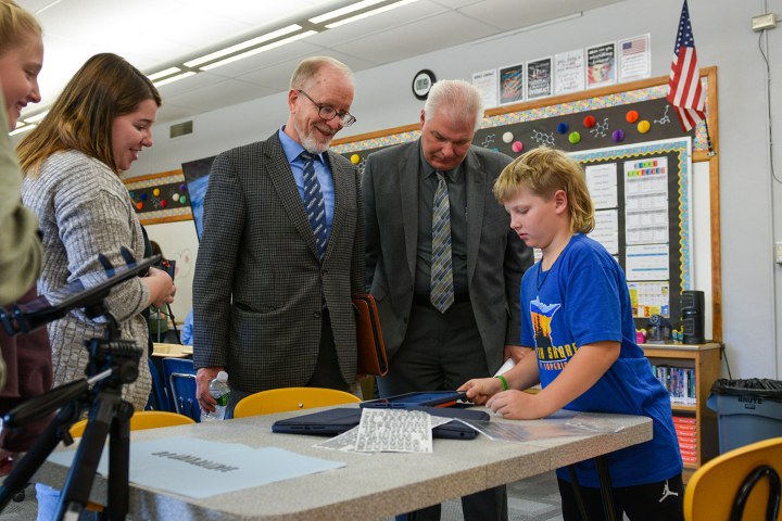
[(112, 421), (109, 441), (109, 506), (103, 509), (101, 521), (124, 521), (128, 512), (128, 458), (133, 414), (133, 405), (121, 402)]

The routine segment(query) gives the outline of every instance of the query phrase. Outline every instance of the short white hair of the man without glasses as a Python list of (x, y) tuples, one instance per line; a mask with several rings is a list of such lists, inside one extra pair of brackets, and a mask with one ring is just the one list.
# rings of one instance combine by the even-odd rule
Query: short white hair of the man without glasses
[(475, 86), (462, 79), (443, 79), (432, 86), (424, 105), (424, 118), (434, 117), (440, 107), (446, 111), (447, 118), (454, 123), (472, 123), (474, 130), (478, 130), (483, 120), (483, 96)]

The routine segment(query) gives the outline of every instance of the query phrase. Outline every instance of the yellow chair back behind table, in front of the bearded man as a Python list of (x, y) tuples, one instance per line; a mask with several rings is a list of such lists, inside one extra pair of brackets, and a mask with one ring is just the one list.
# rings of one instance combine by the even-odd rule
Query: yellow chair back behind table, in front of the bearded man
[(354, 404), (361, 402), (357, 396), (321, 387), (283, 387), (251, 394), (239, 402), (234, 409), (234, 418), (272, 415), (289, 410), (312, 409), (328, 405)]

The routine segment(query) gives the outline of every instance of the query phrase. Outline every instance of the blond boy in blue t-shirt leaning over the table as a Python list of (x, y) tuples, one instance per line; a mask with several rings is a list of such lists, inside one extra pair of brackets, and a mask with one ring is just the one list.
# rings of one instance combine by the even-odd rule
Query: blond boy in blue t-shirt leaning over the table
[[(653, 440), (607, 455), (618, 517), (681, 520), (682, 460), (670, 398), (635, 343), (621, 267), (584, 234), (594, 228), (594, 208), (581, 167), (562, 151), (534, 149), (503, 170), (494, 195), (521, 240), (543, 252), (521, 281), (521, 345), (533, 351), (504, 379), (470, 380), (459, 391), (510, 419), (562, 408), (652, 418)], [(539, 382), (537, 395), (517, 391)], [(594, 461), (576, 469), (590, 519), (603, 519)], [(564, 519), (580, 520), (567, 471), (558, 469), (557, 478)]]

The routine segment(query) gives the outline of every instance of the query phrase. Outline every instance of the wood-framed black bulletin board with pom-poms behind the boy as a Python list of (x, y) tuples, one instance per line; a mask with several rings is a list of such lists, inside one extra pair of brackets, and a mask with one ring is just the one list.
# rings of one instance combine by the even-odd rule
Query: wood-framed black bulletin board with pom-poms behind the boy
[[(719, 124), (717, 110), (717, 67), (701, 69), (701, 81), (706, 97), (706, 125), (702, 122), (690, 132), (683, 132), (678, 116), (668, 105), (668, 76), (644, 79), (547, 98), (516, 105), (505, 105), (488, 110), (481, 128), (476, 132), (472, 144), (503, 152), (517, 157), (525, 151), (541, 145), (553, 145), (570, 153), (580, 153), (616, 147), (639, 145), (661, 140), (689, 138), (691, 161), (708, 164), (710, 229), (710, 278), (711, 278), (711, 339), (722, 338), (721, 306), (721, 262), (720, 262), (720, 220), (719, 220)], [(634, 113), (634, 114), (632, 114)], [(415, 117), (416, 115), (412, 115)], [(591, 118), (594, 125), (589, 126)], [(647, 125), (641, 125), (646, 122)], [(646, 129), (648, 127), (648, 129)], [(643, 131), (645, 130), (645, 131)], [(573, 134), (577, 132), (578, 136)], [(380, 149), (415, 141), (419, 138), (418, 124), (380, 130), (362, 136), (352, 136), (332, 142), (332, 150), (344, 155), (360, 168), (366, 157)], [(711, 145), (711, 151), (709, 150)], [(515, 148), (514, 148), (515, 145)], [(678, 152), (672, 153), (677, 155)], [(678, 155), (669, 157), (669, 164), (678, 164)], [(625, 160), (631, 160), (632, 154)], [(679, 180), (674, 179), (678, 183)], [(671, 181), (673, 182), (673, 181)], [(678, 185), (677, 185), (678, 190)], [(671, 192), (676, 193), (676, 192)], [(621, 206), (620, 201), (620, 208)], [(620, 212), (621, 213), (621, 212)], [(680, 294), (689, 288), (689, 266), (682, 265), (682, 258), (690, 252), (690, 238), (682, 234), (682, 214), (674, 212), (671, 217), (670, 247), (671, 280), (671, 322), (674, 327), (680, 317)], [(677, 229), (672, 229), (673, 223)], [(686, 231), (686, 230), (684, 230)], [(682, 254), (684, 252), (684, 255)], [(686, 268), (686, 269), (685, 269)], [(676, 281), (676, 288), (673, 288)], [(676, 293), (674, 293), (676, 291)], [(677, 306), (674, 308), (674, 305)], [(641, 321), (636, 322), (641, 326)], [(645, 325), (645, 320), (643, 320)], [(709, 332), (706, 332), (709, 336)]]

